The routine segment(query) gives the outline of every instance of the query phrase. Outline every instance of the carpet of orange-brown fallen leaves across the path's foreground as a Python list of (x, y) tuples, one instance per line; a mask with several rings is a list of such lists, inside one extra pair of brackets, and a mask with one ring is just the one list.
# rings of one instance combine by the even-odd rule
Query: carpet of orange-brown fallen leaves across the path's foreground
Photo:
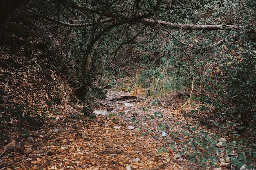
[[(136, 106), (138, 107), (138, 106)], [(136, 108), (135, 107), (135, 108)], [(132, 111), (132, 110), (130, 110)], [(17, 140), (16, 148), (7, 151), (1, 157), (1, 168), (16, 169), (186, 169), (188, 162), (174, 160), (174, 153), (157, 155), (157, 148), (165, 141), (153, 139), (146, 135), (139, 137), (153, 122), (139, 124), (141, 130), (126, 130), (131, 123), (131, 113), (118, 116), (116, 121), (110, 117), (98, 116), (92, 121), (66, 119), (54, 122), (37, 132), (31, 132), (34, 141), (28, 143), (26, 138)], [(154, 109), (149, 111), (152, 114)], [(138, 114), (143, 114), (138, 110)], [(121, 127), (115, 129), (114, 126)], [(31, 152), (25, 154), (27, 148)], [(136, 162), (139, 158), (141, 161)], [(195, 168), (195, 167), (194, 167)], [(193, 169), (194, 169), (193, 168)]]

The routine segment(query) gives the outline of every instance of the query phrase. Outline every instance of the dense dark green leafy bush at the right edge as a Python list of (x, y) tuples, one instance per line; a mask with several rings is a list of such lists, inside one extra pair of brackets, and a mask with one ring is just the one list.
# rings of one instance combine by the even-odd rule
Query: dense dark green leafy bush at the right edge
[[(229, 62), (225, 73), (227, 76), (225, 87), (226, 104), (231, 109), (228, 114), (241, 119), (243, 125), (251, 126), (256, 122), (256, 57), (248, 42), (238, 51), (239, 60)], [(243, 50), (244, 52), (242, 52)]]

